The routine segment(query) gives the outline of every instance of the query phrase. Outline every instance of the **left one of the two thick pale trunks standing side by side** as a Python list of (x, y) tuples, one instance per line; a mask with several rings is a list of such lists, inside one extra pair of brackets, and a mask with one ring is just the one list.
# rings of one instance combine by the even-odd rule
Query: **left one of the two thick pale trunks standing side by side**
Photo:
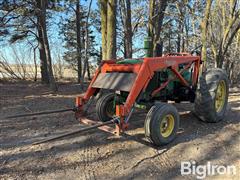
[(107, 4), (108, 0), (99, 0), (102, 32), (102, 59), (107, 59)]

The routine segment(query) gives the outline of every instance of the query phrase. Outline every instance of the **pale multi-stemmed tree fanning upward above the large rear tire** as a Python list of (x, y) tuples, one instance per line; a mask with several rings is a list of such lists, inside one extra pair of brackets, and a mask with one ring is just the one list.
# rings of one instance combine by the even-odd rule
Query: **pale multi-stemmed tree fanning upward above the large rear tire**
[[(240, 9), (237, 0), (217, 1), (211, 14), (210, 37), (215, 66), (222, 68), (228, 49), (240, 29)], [(226, 69), (229, 67), (229, 58)]]

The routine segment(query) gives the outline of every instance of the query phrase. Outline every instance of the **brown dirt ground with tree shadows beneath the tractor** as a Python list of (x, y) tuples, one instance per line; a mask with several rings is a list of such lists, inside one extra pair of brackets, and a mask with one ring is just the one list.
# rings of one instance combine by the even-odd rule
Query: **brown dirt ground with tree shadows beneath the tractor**
[[(144, 137), (145, 111), (135, 113), (130, 130), (117, 138), (97, 130), (41, 145), (31, 143), (83, 125), (73, 113), (17, 119), (7, 115), (72, 107), (77, 84), (62, 83), (59, 92), (33, 83), (0, 83), (0, 179), (196, 179), (181, 176), (181, 161), (235, 165), (237, 174), (215, 179), (240, 179), (240, 89), (232, 88), (228, 113), (220, 123), (204, 123), (175, 104), (181, 123), (178, 137), (154, 147)], [(89, 118), (95, 118), (94, 105)], [(208, 179), (207, 178), (207, 179)]]

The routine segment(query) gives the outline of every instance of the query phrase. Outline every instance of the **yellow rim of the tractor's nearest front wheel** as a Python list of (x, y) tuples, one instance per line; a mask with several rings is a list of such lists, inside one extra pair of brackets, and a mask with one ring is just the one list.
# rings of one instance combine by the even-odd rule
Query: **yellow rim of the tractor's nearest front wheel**
[(171, 114), (166, 115), (160, 124), (160, 133), (163, 137), (168, 137), (174, 129), (174, 117)]

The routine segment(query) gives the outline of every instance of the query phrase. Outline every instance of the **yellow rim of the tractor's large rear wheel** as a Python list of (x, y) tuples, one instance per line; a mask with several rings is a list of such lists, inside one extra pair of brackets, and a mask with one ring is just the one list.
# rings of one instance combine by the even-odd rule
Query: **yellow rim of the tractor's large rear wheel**
[(226, 101), (226, 83), (224, 80), (222, 80), (218, 84), (215, 99), (215, 109), (217, 113), (222, 111), (225, 101)]

